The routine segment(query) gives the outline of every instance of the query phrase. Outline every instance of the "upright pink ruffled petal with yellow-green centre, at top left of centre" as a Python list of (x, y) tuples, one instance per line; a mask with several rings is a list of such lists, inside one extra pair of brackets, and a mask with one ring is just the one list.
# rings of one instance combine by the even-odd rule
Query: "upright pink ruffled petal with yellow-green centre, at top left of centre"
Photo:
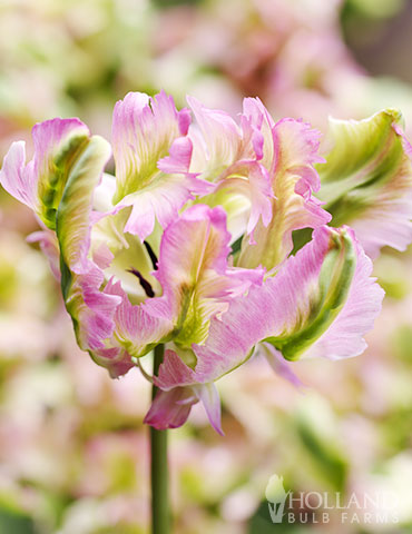
[[(189, 111), (176, 110), (171, 97), (129, 92), (116, 103), (112, 144), (116, 162), (116, 209), (133, 206), (125, 230), (141, 240), (155, 221), (166, 228), (183, 205), (207, 185), (189, 174), (192, 141), (186, 137)], [(208, 189), (207, 189), (208, 190)]]

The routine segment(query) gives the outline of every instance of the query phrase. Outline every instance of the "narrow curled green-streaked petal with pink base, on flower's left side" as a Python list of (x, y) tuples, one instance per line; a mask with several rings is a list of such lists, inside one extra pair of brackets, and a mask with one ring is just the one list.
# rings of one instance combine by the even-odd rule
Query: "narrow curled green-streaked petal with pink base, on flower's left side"
[(104, 274), (88, 258), (92, 196), (109, 157), (109, 144), (99, 136), (91, 137), (70, 168), (57, 212), (62, 294), (78, 344), (85, 350), (105, 347), (120, 300), (101, 293)]

